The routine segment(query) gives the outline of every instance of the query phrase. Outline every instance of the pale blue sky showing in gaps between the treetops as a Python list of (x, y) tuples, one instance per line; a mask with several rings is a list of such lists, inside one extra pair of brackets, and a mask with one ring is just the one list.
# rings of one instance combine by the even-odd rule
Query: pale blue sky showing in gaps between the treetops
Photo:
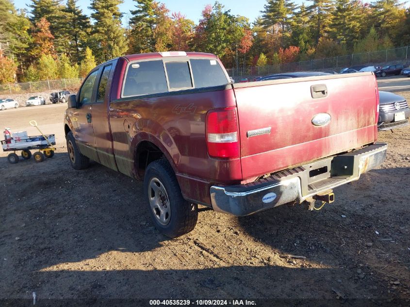
[[(14, 0), (17, 8), (26, 8), (27, 3), (31, 3), (30, 0)], [(65, 2), (65, 0), (63, 0)], [(90, 10), (87, 8), (90, 5), (90, 0), (78, 0), (77, 4), (82, 8), (83, 12), (87, 15), (90, 14)], [(171, 12), (181, 12), (187, 18), (194, 20), (195, 23), (201, 17), (201, 12), (206, 4), (213, 4), (214, 0), (160, 0), (165, 3), (167, 8)], [(220, 3), (225, 5), (225, 9), (230, 10), (233, 15), (242, 15), (249, 18), (250, 22), (253, 22), (257, 16), (260, 15), (260, 11), (263, 10), (263, 5), (266, 0), (219, 0)], [(307, 2), (307, 1), (306, 1)], [(300, 4), (302, 0), (296, 0), (295, 3)], [(309, 2), (307, 2), (309, 3)], [(134, 9), (135, 1), (124, 0), (124, 3), (120, 5), (120, 10), (123, 13), (129, 13)]]

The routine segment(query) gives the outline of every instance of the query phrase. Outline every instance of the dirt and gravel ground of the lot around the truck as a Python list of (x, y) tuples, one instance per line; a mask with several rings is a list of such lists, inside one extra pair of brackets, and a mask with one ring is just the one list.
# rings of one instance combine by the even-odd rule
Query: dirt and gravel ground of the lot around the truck
[(65, 108), (0, 113), (1, 128), (33, 135), (35, 119), (58, 142), (42, 163), (0, 153), (0, 299), (410, 299), (409, 126), (380, 132), (387, 160), (320, 211), (201, 208), (196, 228), (170, 240), (151, 224), (141, 183), (98, 164), (71, 168)]

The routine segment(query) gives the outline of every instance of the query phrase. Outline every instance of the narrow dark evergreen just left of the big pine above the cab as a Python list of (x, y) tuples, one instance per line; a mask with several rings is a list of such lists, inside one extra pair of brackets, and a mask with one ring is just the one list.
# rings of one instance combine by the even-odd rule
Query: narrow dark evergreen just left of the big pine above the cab
[(81, 50), (86, 42), (87, 34), (90, 33), (90, 20), (82, 14), (77, 6), (77, 0), (67, 0), (65, 13), (67, 16), (66, 33), (70, 43), (68, 54), (72, 62), (79, 63), (82, 55)]

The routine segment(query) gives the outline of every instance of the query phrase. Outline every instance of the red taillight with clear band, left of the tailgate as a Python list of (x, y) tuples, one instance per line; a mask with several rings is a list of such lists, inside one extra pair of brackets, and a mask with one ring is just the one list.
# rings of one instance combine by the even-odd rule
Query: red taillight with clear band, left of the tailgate
[(236, 108), (214, 109), (206, 115), (208, 153), (215, 158), (239, 158)]

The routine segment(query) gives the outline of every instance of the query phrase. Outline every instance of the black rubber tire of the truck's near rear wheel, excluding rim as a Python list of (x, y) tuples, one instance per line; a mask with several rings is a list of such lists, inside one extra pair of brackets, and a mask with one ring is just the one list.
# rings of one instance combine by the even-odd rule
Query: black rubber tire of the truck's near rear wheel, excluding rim
[[(156, 214), (155, 210), (151, 207), (150, 198), (154, 199), (156, 197), (155, 194), (157, 193), (151, 188), (148, 188), (149, 184), (152, 182), (151, 180), (160, 181), (160, 184), (164, 187), (164, 200), (166, 205), (162, 206), (162, 208), (166, 208), (167, 205), (170, 208), (170, 217), (166, 225), (160, 222), (158, 214)], [(150, 197), (149, 194), (151, 194)], [(152, 194), (154, 194), (154, 196), (152, 196)], [(165, 236), (177, 238), (190, 232), (197, 225), (198, 205), (193, 204), (182, 197), (177, 177), (175, 176), (171, 165), (165, 159), (156, 160), (148, 164), (144, 176), (144, 195), (148, 203), (149, 214), (151, 215), (155, 226)]]

